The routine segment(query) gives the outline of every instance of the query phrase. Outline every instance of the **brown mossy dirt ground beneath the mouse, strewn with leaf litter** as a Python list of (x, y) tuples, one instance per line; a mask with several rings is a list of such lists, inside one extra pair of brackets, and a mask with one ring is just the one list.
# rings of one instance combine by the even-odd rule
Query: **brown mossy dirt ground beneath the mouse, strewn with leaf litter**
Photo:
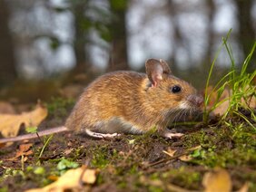
[[(42, 127), (63, 122), (64, 116), (48, 118)], [(0, 191), (44, 187), (54, 181), (53, 176), (61, 175), (57, 164), (63, 158), (98, 169), (96, 182), (84, 187), (85, 191), (202, 191), (205, 173), (214, 168), (228, 171), (233, 191), (245, 184), (249, 191), (255, 191), (255, 130), (240, 119), (231, 122), (242, 126), (234, 128), (218, 120), (208, 125), (176, 126), (176, 130), (185, 133), (181, 139), (162, 139), (156, 133), (115, 139), (59, 133), (46, 145), (40, 158), (43, 142), (30, 140), (32, 153), (25, 155), (24, 164), (21, 158), (15, 158), (22, 145), (16, 142), (0, 149)], [(251, 122), (255, 126), (255, 121)], [(164, 152), (174, 150), (172, 157)], [(43, 174), (34, 171), (38, 167), (44, 168)]]

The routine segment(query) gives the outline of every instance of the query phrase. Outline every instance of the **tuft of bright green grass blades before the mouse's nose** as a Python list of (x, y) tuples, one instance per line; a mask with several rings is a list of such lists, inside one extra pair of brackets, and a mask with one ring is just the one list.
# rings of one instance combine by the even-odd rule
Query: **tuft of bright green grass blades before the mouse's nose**
[[(246, 72), (247, 67), (251, 61), (251, 56), (255, 51), (256, 42), (254, 43), (251, 53), (247, 56), (245, 61), (242, 64), (241, 72), (237, 72), (235, 68), (235, 62), (232, 56), (231, 52), (231, 46), (228, 44), (228, 38), (231, 34), (230, 32), (227, 34), (225, 38), (222, 40), (222, 45), (219, 47), (218, 52), (216, 53), (214, 60), (212, 62), (212, 66), (208, 75), (208, 79), (206, 82), (206, 88), (205, 88), (205, 100), (204, 100), (204, 114), (203, 114), (203, 120), (206, 122), (209, 119), (209, 114), (212, 112), (212, 110), (215, 110), (218, 106), (220, 106), (224, 101), (229, 101), (229, 107), (228, 110), (225, 111), (224, 115), (222, 116), (222, 120), (227, 122), (227, 117), (238, 115), (243, 120), (245, 120), (251, 128), (256, 130), (255, 126), (251, 123), (250, 120), (247, 119), (241, 112), (240, 109), (249, 110), (251, 112), (251, 118), (252, 120), (256, 120), (254, 110), (250, 108), (249, 101), (251, 101), (252, 97), (256, 96), (255, 86), (251, 84), (252, 80), (256, 77), (256, 71), (252, 73)], [(209, 82), (212, 77), (212, 70), (214, 67), (214, 64), (219, 56), (219, 54), (222, 51), (222, 47), (226, 48), (226, 51), (230, 57), (231, 60), (231, 71), (228, 72), (226, 75), (222, 77), (222, 79), (214, 86), (212, 89), (212, 92), (208, 92)], [(221, 100), (221, 96), (225, 88), (231, 88), (231, 96), (228, 98), (225, 98)], [(209, 101), (212, 97), (212, 94), (214, 92), (217, 92), (217, 99), (214, 102), (212, 109), (206, 110), (207, 106), (209, 104)], [(244, 102), (242, 102), (244, 101)]]

